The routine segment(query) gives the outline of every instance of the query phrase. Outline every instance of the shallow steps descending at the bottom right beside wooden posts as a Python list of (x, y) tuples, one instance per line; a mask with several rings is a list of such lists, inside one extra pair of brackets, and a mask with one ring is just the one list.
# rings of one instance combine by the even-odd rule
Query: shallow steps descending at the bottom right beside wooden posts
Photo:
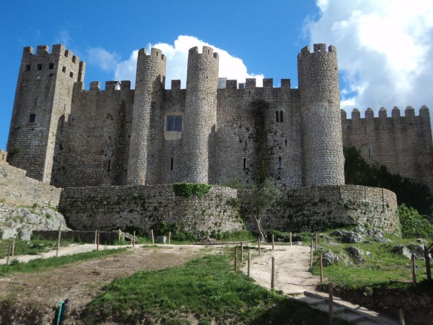
[[(324, 312), (329, 311), (329, 299), (325, 295), (319, 295), (304, 291), (303, 295), (296, 298), (299, 301), (309, 304), (311, 307)], [(346, 319), (356, 325), (398, 325), (398, 322), (379, 315), (376, 312), (352, 305), (348, 302), (334, 297), (332, 301), (332, 311), (335, 317)]]

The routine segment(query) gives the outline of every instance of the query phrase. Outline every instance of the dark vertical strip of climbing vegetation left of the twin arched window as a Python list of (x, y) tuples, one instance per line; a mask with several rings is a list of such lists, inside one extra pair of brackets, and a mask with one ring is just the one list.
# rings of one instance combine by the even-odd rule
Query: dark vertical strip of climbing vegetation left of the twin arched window
[(254, 153), (252, 156), (252, 180), (260, 185), (264, 182), (269, 171), (269, 159), (271, 155), (268, 150), (269, 125), (266, 115), (269, 103), (263, 99), (255, 99), (250, 103), (252, 116), (254, 117), (254, 128), (252, 132)]

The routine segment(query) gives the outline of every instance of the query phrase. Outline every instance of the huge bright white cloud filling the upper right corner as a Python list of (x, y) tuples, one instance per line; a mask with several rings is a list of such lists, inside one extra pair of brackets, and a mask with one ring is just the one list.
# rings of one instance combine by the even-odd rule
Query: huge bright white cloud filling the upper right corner
[(316, 5), (320, 14), (306, 19), (306, 28), (311, 43), (337, 47), (342, 108), (433, 107), (433, 2), (317, 0)]

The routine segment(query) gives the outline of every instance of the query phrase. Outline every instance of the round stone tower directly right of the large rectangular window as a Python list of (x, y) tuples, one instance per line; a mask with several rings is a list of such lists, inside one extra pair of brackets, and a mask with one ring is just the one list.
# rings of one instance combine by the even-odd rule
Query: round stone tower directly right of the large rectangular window
[(184, 130), (182, 132), (183, 168), (186, 182), (208, 183), (212, 132), (216, 127), (218, 53), (203, 46), (188, 52)]

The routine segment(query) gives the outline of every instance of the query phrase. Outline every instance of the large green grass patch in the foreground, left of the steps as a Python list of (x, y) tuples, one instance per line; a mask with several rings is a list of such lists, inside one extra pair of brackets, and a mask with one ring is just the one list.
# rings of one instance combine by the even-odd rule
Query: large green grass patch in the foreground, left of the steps
[(87, 306), (86, 319), (124, 324), (189, 324), (191, 317), (201, 325), (327, 323), (326, 314), (254, 284), (232, 271), (229, 261), (226, 254), (205, 255), (181, 267), (116, 279)]

